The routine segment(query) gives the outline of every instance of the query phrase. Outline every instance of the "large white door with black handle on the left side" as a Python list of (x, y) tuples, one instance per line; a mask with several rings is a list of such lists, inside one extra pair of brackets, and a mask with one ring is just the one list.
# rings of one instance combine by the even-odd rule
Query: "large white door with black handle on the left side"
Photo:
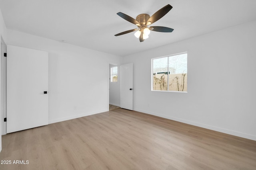
[(7, 133), (48, 124), (47, 52), (7, 45), (6, 104)]

